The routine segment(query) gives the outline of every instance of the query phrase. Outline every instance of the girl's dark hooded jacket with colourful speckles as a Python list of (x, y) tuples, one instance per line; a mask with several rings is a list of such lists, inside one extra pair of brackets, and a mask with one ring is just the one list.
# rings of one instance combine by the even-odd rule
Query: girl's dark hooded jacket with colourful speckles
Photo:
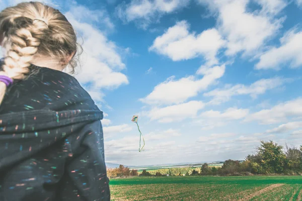
[(0, 201), (110, 200), (103, 113), (74, 77), (32, 71), (0, 106)]

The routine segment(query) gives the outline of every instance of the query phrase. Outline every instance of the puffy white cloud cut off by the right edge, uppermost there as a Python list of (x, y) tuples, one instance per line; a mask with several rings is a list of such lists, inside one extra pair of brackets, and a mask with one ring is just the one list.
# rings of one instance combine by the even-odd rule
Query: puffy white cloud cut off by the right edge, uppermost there
[(281, 39), (280, 47), (273, 47), (260, 56), (256, 69), (280, 69), (289, 64), (291, 68), (302, 66), (302, 32), (287, 32)]

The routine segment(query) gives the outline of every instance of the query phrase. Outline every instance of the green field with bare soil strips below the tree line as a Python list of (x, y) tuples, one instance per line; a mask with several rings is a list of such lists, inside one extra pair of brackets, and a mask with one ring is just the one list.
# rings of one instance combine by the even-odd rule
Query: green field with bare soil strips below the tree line
[(302, 176), (111, 179), (112, 200), (302, 200)]

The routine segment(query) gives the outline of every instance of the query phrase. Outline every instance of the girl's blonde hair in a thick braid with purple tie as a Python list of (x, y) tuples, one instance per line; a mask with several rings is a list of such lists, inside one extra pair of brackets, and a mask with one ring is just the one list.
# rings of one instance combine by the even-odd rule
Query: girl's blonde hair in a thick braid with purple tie
[[(0, 36), (6, 50), (0, 75), (12, 79), (24, 79), (30, 73), (33, 56), (47, 56), (66, 63), (79, 47), (75, 31), (65, 16), (39, 2), (21, 3), (1, 11)], [(76, 63), (73, 57), (69, 66), (74, 69)], [(0, 104), (6, 89), (6, 84), (0, 82)]]

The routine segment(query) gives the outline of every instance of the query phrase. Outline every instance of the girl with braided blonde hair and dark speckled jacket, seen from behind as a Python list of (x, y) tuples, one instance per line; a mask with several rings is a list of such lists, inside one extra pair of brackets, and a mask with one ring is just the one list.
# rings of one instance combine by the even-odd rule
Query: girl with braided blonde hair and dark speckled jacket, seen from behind
[(0, 201), (110, 200), (103, 113), (72, 76), (77, 37), (38, 2), (0, 12)]

